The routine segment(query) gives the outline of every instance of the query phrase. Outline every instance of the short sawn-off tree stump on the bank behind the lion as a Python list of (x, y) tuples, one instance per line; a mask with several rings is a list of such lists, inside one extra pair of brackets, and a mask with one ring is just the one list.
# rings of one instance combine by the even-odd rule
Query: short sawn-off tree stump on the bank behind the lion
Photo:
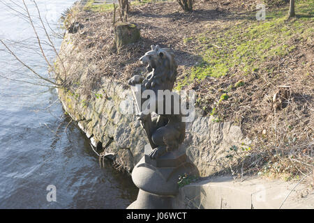
[(140, 40), (140, 30), (135, 24), (119, 22), (114, 25), (114, 43), (117, 50), (129, 43), (136, 43)]

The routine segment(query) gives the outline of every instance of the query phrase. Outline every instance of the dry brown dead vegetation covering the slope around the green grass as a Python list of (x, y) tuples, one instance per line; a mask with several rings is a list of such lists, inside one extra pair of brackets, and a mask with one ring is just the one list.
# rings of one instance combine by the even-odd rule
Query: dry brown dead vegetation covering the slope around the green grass
[[(152, 44), (174, 49), (180, 82), (201, 61), (198, 43), (188, 38), (204, 31), (209, 35), (211, 31), (223, 32), (250, 21), (256, 2), (197, 1), (191, 13), (184, 13), (175, 1), (131, 7), (128, 21), (137, 24), (142, 38), (119, 52), (113, 47), (112, 11), (95, 13), (74, 8), (75, 13), (68, 13), (66, 20), (84, 28), (73, 33), (73, 44), (84, 54), (84, 61), (97, 68), (91, 69), (90, 78), (81, 87), (98, 88), (104, 76), (126, 82), (144, 72), (137, 59)], [(250, 153), (238, 154), (241, 164), (231, 168), (234, 174), (253, 172), (286, 179), (313, 174), (313, 38), (291, 41), (295, 47), (289, 54), (263, 61), (257, 70), (244, 75), (242, 70), (232, 68), (223, 77), (194, 79), (184, 86), (196, 91), (200, 99), (197, 107), (204, 116), (233, 121), (252, 139)], [(77, 80), (73, 76), (71, 84)], [(227, 100), (220, 100), (223, 94)]]

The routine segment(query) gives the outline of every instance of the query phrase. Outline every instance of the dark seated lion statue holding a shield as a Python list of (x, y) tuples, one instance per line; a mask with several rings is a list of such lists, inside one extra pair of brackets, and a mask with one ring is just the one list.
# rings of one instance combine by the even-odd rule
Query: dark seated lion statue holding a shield
[[(137, 114), (153, 148), (149, 157), (156, 159), (167, 151), (179, 148), (185, 137), (186, 125), (182, 121), (180, 111), (175, 112), (180, 107), (180, 98), (171, 92), (177, 78), (177, 63), (171, 49), (160, 48), (158, 45), (151, 45), (151, 50), (145, 53), (140, 61), (147, 65), (149, 73), (145, 76), (133, 76), (128, 84), (131, 86), (140, 84), (141, 93), (149, 90), (156, 95), (154, 100), (149, 98), (151, 99), (149, 107), (144, 107)], [(163, 94), (165, 92), (168, 94), (171, 92), (170, 97), (165, 96)], [(143, 103), (144, 98), (141, 98), (141, 108)], [(163, 105), (162, 109), (160, 105)], [(151, 112), (156, 112), (158, 116), (151, 118)]]

